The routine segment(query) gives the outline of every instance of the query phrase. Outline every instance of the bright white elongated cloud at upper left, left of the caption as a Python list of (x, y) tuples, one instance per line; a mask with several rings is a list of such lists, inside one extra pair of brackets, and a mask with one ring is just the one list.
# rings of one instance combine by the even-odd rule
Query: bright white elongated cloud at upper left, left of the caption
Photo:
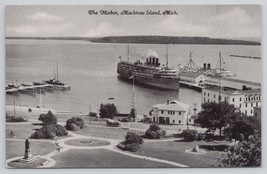
[(62, 22), (65, 20), (64, 17), (51, 15), (45, 12), (38, 12), (33, 15), (27, 16), (28, 19), (34, 21), (46, 21), (46, 22)]

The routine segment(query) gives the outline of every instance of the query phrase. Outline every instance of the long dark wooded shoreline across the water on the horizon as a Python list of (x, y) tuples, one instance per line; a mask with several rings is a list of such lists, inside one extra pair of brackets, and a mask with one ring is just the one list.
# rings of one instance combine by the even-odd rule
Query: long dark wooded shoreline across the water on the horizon
[(251, 45), (260, 46), (257, 41), (241, 39), (221, 39), (209, 37), (178, 36), (109, 36), (109, 37), (6, 37), (6, 39), (30, 40), (80, 40), (96, 43), (132, 43), (132, 44), (202, 44), (202, 45)]

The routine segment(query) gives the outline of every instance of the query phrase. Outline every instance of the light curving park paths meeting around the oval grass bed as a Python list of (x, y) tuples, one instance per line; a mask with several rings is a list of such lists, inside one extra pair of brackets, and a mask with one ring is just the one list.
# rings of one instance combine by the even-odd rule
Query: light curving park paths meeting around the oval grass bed
[[(123, 155), (134, 157), (134, 158), (145, 159), (145, 160), (159, 162), (159, 163), (165, 163), (165, 164), (173, 165), (175, 167), (189, 167), (189, 166), (186, 166), (186, 165), (183, 165), (183, 164), (180, 164), (180, 163), (176, 163), (176, 162), (173, 162), (173, 161), (162, 160), (162, 159), (159, 159), (159, 158), (152, 158), (152, 157), (136, 155), (136, 154), (132, 154), (132, 153), (129, 153), (129, 152), (121, 151), (121, 150), (116, 148), (116, 145), (119, 144), (121, 142), (121, 140), (78, 135), (78, 134), (75, 134), (75, 133), (70, 132), (70, 131), (68, 131), (68, 133), (69, 133), (69, 135), (71, 135), (71, 137), (66, 137), (66, 138), (62, 138), (62, 139), (58, 139), (58, 140), (49, 140), (49, 142), (55, 143), (56, 145), (58, 145), (60, 150), (55, 150), (55, 151), (50, 152), (50, 153), (48, 153), (46, 155), (40, 156), (41, 158), (44, 158), (47, 161), (49, 161), (48, 164), (46, 164), (44, 166), (40, 166), (40, 168), (53, 167), (56, 164), (56, 161), (52, 157), (54, 155), (57, 155), (59, 153), (65, 152), (65, 151), (68, 151), (70, 149), (84, 149), (84, 150), (107, 149), (107, 150), (110, 150), (110, 151), (113, 151), (113, 152), (117, 152), (117, 153), (120, 153), (120, 154), (123, 154)], [(68, 141), (68, 140), (81, 139), (81, 138), (92, 138), (92, 139), (104, 140), (104, 141), (108, 141), (110, 144), (109, 145), (103, 145), (103, 146), (90, 146), (90, 147), (88, 147), (88, 146), (74, 146), (74, 145), (65, 144), (65, 142)], [(25, 141), (25, 140), (22, 140), (22, 139), (7, 139), (7, 140)], [(173, 141), (173, 140), (177, 140), (177, 139), (145, 140), (145, 142)], [(44, 141), (44, 140), (31, 140), (31, 141)], [(47, 142), (47, 140), (45, 140), (45, 141)], [(13, 160), (21, 159), (21, 158), (22, 157), (15, 157), (15, 158), (7, 159), (6, 160), (6, 166), (10, 168), (10, 166), (8, 166), (9, 162), (11, 162)]]

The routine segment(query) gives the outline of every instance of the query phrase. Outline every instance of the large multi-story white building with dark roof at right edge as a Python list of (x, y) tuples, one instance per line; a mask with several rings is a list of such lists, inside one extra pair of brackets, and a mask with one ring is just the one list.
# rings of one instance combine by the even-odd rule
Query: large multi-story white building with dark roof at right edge
[[(219, 90), (220, 89), (220, 90)], [(227, 101), (238, 108), (241, 113), (247, 116), (253, 116), (254, 107), (261, 106), (261, 89), (243, 88), (234, 89), (219, 86), (210, 86), (202, 90), (202, 103), (205, 102), (219, 102), (219, 95), (221, 101)]]

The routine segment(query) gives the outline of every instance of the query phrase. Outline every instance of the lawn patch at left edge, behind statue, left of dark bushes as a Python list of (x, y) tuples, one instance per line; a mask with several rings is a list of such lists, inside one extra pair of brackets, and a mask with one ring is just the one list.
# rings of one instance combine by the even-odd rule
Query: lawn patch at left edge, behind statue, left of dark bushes
[[(18, 124), (6, 124), (6, 138), (17, 138), (17, 139), (26, 139), (35, 132), (34, 129), (39, 129), (42, 126), (32, 125), (31, 123), (18, 123)], [(10, 136), (11, 131), (13, 132), (13, 137)]]

